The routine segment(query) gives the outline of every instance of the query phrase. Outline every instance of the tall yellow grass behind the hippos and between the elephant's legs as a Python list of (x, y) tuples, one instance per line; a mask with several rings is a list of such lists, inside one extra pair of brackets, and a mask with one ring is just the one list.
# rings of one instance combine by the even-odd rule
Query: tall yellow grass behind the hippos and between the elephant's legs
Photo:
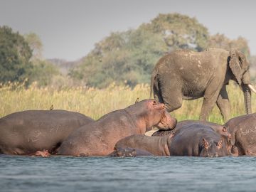
[[(137, 85), (133, 89), (125, 86), (110, 85), (105, 89), (91, 87), (72, 87), (56, 90), (53, 87), (38, 88), (36, 84), (28, 88), (11, 84), (0, 86), (0, 117), (23, 110), (70, 110), (86, 114), (93, 119), (103, 114), (132, 105), (139, 100), (149, 98), (149, 85)], [(245, 114), (244, 99), (240, 88), (233, 83), (228, 85), (228, 95), (232, 106), (232, 117)], [(202, 99), (183, 101), (183, 106), (171, 112), (181, 121), (198, 119), (201, 112)], [(252, 112), (255, 112), (255, 95), (252, 94)], [(223, 124), (217, 107), (214, 107), (208, 118), (210, 122)]]

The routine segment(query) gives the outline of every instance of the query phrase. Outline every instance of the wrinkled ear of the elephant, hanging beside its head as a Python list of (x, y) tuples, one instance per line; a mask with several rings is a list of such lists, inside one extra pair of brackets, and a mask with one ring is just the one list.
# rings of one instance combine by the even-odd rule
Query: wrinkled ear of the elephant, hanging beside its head
[(238, 50), (230, 50), (229, 66), (238, 84), (241, 85), (242, 68), (240, 65)]

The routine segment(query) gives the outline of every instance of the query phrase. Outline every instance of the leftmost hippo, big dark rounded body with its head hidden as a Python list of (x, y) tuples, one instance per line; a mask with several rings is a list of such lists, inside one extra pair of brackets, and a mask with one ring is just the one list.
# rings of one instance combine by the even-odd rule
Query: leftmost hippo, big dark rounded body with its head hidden
[(1, 154), (35, 154), (55, 149), (73, 130), (94, 122), (78, 112), (65, 110), (28, 110), (0, 119)]

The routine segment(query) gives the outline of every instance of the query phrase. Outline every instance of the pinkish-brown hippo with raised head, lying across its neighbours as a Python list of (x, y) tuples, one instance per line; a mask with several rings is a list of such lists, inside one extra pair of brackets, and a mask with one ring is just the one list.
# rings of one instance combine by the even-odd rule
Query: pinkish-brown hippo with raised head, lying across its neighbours
[(143, 100), (123, 110), (105, 114), (89, 126), (80, 127), (61, 144), (58, 154), (106, 156), (120, 139), (145, 134), (153, 126), (174, 129), (176, 119), (156, 100)]

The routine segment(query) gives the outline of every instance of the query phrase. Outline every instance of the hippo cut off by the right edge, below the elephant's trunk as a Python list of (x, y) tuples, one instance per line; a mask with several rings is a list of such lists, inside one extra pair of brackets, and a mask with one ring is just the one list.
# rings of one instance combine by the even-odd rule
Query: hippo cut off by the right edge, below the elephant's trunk
[(256, 156), (256, 113), (234, 117), (225, 127), (232, 136), (233, 155)]

